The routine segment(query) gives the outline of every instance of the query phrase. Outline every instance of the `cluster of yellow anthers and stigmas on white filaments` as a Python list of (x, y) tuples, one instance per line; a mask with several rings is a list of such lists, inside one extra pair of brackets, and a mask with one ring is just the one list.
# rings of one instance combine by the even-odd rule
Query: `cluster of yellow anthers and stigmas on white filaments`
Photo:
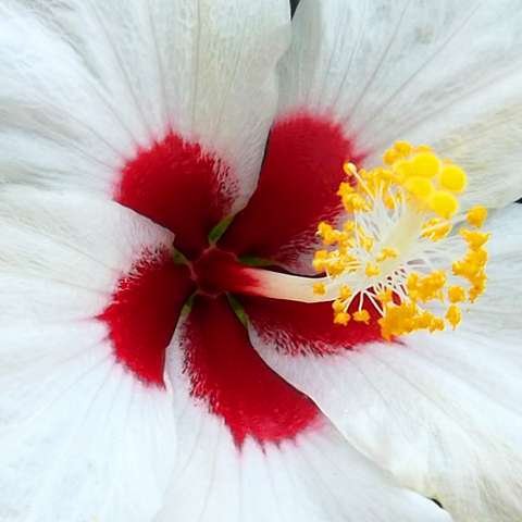
[[(487, 211), (469, 210), (468, 226), (452, 234), (463, 220), (458, 212), (464, 171), (430, 147), (407, 141), (396, 142), (383, 161), (370, 171), (345, 163), (347, 179), (337, 194), (348, 219), (338, 227), (319, 224), (325, 248), (315, 252), (313, 266), (326, 278), (313, 291), (334, 299), (336, 324), (368, 324), (373, 307), (388, 339), (455, 328), (462, 303), (485, 290), (489, 234), (481, 228)], [(447, 261), (451, 250), (464, 253)]]

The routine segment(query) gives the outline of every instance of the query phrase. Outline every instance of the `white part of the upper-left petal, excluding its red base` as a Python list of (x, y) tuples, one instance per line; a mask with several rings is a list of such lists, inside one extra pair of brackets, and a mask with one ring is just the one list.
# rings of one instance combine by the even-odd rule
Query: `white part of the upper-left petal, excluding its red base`
[(3, 2), (0, 179), (111, 195), (125, 160), (172, 128), (217, 152), (243, 204), (288, 11), (284, 0)]

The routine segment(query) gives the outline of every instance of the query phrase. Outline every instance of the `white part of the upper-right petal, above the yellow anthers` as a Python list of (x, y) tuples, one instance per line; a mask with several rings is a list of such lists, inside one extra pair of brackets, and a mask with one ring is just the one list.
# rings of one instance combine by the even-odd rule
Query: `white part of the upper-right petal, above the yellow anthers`
[(522, 195), (521, 24), (518, 0), (302, 0), (279, 113), (330, 116), (369, 166), (427, 142), (468, 170), (468, 204), (506, 204)]

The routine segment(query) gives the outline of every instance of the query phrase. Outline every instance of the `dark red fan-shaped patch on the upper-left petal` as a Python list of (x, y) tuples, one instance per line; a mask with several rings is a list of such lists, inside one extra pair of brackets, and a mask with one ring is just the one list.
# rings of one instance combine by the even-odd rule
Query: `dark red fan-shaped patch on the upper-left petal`
[(197, 256), (229, 213), (236, 189), (227, 165), (171, 133), (125, 165), (115, 199), (170, 228), (176, 247)]

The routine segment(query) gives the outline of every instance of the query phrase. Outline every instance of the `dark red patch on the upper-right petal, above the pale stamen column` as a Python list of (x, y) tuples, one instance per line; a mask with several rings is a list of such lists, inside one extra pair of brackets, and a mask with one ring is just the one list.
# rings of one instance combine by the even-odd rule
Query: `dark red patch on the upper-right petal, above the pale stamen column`
[(325, 117), (298, 113), (277, 122), (258, 188), (220, 245), (291, 266), (314, 249), (319, 222), (340, 211), (343, 163), (362, 159), (341, 127)]

